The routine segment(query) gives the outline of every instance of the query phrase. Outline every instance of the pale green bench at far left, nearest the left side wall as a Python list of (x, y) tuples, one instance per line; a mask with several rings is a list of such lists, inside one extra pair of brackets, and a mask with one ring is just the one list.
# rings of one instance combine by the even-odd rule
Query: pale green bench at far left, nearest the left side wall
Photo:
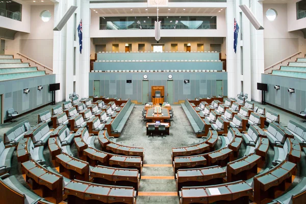
[(23, 138), (23, 135), (30, 129), (31, 126), (28, 120), (20, 122), (4, 134), (5, 144), (16, 146), (18, 142)]

